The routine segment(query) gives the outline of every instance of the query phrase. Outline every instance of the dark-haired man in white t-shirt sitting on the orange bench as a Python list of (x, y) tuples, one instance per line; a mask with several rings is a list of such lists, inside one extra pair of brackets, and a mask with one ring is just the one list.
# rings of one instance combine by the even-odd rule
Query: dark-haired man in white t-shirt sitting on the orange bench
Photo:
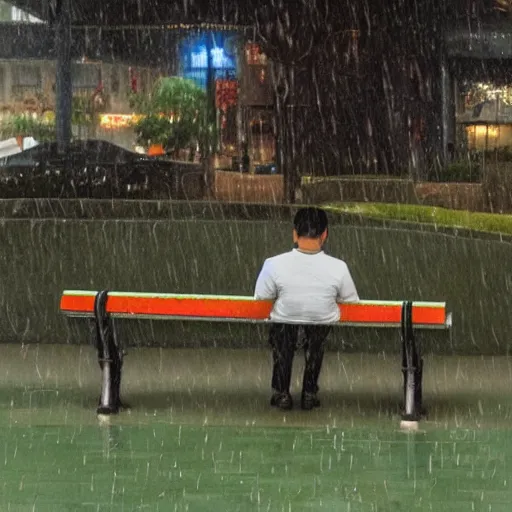
[(305, 354), (301, 406), (311, 410), (320, 405), (318, 377), (329, 324), (340, 319), (337, 303), (359, 301), (347, 264), (322, 249), (327, 235), (324, 210), (300, 209), (293, 221), (295, 248), (265, 260), (256, 282), (255, 298), (275, 301), (269, 332), (273, 355), (270, 404), (280, 409), (293, 407), (290, 382), (299, 336)]

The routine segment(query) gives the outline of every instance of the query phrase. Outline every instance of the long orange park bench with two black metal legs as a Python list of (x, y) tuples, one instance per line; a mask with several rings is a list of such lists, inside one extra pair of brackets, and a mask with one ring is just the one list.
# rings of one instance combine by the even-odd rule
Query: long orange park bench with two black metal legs
[[(395, 328), (400, 332), (404, 408), (402, 421), (417, 422), (422, 415), (423, 358), (416, 341), (419, 329), (449, 329), (451, 314), (444, 302), (367, 301), (340, 304), (340, 327)], [(67, 317), (94, 322), (95, 344), (102, 369), (98, 414), (117, 413), (121, 407), (122, 344), (115, 319), (159, 319), (210, 322), (270, 323), (272, 301), (252, 297), (177, 295), (109, 291), (63, 292), (60, 310)]]

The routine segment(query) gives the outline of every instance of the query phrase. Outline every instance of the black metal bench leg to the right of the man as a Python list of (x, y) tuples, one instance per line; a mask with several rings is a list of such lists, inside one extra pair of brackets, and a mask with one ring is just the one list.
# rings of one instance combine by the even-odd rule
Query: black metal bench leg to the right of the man
[(404, 376), (404, 412), (402, 421), (417, 422), (423, 414), (423, 360), (419, 355), (412, 326), (412, 302), (402, 306), (402, 372)]

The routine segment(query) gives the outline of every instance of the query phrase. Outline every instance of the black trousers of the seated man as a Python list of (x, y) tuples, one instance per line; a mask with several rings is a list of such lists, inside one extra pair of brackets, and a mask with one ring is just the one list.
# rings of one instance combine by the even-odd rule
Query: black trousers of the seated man
[(292, 378), (293, 356), (304, 336), (304, 357), (306, 366), (302, 381), (303, 393), (318, 392), (318, 377), (324, 359), (324, 345), (331, 327), (328, 325), (290, 325), (272, 324), (269, 343), (274, 361), (272, 370), (272, 388), (280, 393), (289, 392)]

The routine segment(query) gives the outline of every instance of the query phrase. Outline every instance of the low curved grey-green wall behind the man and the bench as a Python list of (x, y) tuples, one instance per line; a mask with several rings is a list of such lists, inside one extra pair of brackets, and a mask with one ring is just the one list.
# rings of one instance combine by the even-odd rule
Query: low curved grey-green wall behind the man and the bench
[[(266, 220), (243, 221), (230, 220), (208, 203), (188, 205), (188, 214), (183, 205), (172, 213), (170, 203), (127, 203), (100, 203), (102, 213), (97, 203), (77, 202), (75, 215), (69, 209), (73, 203), (62, 208), (56, 203), (56, 218), (47, 207), (39, 218), (27, 218), (30, 209), (22, 201), (11, 202), (10, 210), (4, 205), (0, 340), (89, 342), (86, 321), (67, 321), (59, 314), (64, 289), (250, 295), (264, 258), (291, 245), (284, 210)], [(218, 220), (203, 220), (212, 217)], [(332, 226), (329, 251), (348, 262), (362, 298), (446, 300), (454, 329), (451, 335), (422, 336), (427, 352), (509, 352), (510, 241), (352, 220), (342, 218)], [(266, 343), (261, 327), (119, 321), (119, 329), (130, 345)], [(394, 352), (398, 332), (337, 329), (330, 348)]]

